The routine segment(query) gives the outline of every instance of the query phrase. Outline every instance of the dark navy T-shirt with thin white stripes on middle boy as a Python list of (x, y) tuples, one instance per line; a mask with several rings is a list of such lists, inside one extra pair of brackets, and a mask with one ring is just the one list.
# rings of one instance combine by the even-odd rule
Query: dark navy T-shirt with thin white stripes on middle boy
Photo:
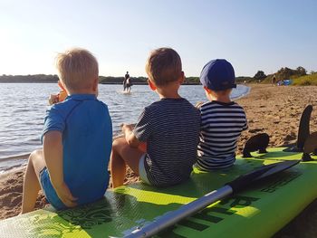
[(197, 161), (200, 113), (185, 99), (162, 99), (146, 107), (133, 130), (147, 142), (144, 167), (154, 186), (186, 180)]

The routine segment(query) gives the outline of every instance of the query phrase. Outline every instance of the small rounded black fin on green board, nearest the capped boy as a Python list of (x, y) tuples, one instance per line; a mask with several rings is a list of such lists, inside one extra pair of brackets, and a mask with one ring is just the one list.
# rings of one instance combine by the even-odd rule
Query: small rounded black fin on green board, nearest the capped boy
[(257, 134), (249, 138), (245, 143), (243, 157), (252, 157), (250, 152), (259, 150), (259, 153), (267, 153), (266, 148), (269, 145), (270, 137), (266, 133)]

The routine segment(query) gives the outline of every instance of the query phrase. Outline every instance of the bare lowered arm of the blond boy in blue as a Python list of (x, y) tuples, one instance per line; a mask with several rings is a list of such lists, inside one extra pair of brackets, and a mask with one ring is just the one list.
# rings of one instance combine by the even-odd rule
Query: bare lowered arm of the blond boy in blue
[(49, 131), (43, 137), (43, 155), (52, 185), (64, 205), (75, 206), (76, 198), (63, 180), (62, 133)]

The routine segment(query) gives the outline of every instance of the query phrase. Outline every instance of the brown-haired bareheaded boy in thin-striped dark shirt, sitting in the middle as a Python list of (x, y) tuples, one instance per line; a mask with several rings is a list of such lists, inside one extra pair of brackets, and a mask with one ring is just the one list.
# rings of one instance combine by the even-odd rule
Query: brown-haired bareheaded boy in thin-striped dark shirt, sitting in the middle
[[(125, 138), (113, 142), (113, 187), (123, 185), (126, 165), (149, 185), (172, 186), (189, 177), (196, 161), (200, 116), (178, 94), (184, 81), (178, 52), (170, 48), (151, 52), (146, 71), (149, 88), (160, 100), (143, 110), (134, 129), (124, 125)], [(146, 152), (139, 147), (144, 142)]]

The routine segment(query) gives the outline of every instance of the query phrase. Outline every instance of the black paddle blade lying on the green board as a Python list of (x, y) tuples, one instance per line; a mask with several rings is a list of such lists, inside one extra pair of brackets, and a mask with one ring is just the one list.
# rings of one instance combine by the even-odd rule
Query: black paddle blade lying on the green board
[(227, 185), (232, 187), (234, 193), (237, 193), (245, 189), (247, 186), (253, 185), (259, 180), (273, 176), (289, 167), (297, 165), (300, 161), (301, 160), (288, 160), (259, 167), (244, 176), (237, 177), (234, 181), (228, 183)]

